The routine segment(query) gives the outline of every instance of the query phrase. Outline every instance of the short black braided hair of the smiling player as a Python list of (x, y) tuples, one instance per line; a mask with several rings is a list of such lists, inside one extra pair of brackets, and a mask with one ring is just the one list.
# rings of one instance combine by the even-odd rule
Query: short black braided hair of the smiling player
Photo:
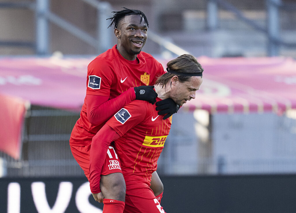
[[(142, 18), (144, 18), (144, 23), (147, 25), (147, 27), (149, 27), (147, 17), (141, 10), (128, 9), (126, 7), (122, 7), (122, 8), (124, 8), (124, 10), (112, 12), (114, 13), (113, 17), (108, 18), (108, 19), (111, 19), (111, 24), (109, 25), (109, 27), (111, 27), (114, 24), (114, 29), (117, 28), (118, 22), (121, 20), (121, 18), (127, 15), (140, 15)], [(141, 22), (142, 22), (142, 19), (140, 20), (140, 23)]]

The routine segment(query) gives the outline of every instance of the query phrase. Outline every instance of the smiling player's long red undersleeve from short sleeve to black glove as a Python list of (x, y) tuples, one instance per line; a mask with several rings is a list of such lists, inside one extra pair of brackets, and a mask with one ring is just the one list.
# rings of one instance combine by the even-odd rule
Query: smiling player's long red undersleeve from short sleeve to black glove
[(108, 96), (86, 95), (87, 118), (92, 125), (109, 120), (123, 106), (136, 99), (136, 94), (134, 88), (129, 88), (118, 97), (108, 99)]

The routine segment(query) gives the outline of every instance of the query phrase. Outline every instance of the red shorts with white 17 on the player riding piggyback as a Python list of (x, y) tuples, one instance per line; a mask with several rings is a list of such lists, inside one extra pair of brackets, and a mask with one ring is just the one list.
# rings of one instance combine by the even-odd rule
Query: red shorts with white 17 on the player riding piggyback
[[(70, 149), (73, 157), (75, 158), (79, 166), (83, 169), (86, 178), (89, 180), (89, 154), (91, 151), (91, 144), (87, 146), (70, 145)], [(110, 145), (107, 151), (101, 175), (109, 175), (115, 172), (122, 173), (121, 164), (113, 146)]]

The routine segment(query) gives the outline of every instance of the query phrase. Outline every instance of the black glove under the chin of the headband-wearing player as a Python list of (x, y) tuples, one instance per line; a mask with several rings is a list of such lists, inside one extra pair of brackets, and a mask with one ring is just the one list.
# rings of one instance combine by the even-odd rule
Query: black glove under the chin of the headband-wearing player
[(157, 101), (155, 104), (157, 107), (155, 108), (158, 112), (158, 114), (166, 114), (165, 117), (163, 117), (163, 120), (170, 117), (172, 114), (178, 112), (180, 109), (180, 106), (173, 101), (173, 99), (164, 99), (162, 101)]

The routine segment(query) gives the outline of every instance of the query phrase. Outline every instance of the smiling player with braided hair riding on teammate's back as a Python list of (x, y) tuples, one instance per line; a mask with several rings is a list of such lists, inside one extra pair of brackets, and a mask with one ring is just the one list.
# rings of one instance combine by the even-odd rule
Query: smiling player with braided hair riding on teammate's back
[[(117, 45), (90, 62), (87, 69), (86, 97), (80, 118), (70, 137), (72, 154), (88, 180), (92, 178), (89, 165), (94, 135), (107, 120), (131, 101), (143, 100), (155, 104), (157, 93), (153, 89), (154, 84), (157, 77), (165, 73), (157, 60), (141, 51), (147, 39), (148, 21), (145, 14), (127, 8), (113, 13), (110, 26), (114, 24)], [(165, 114), (163, 119), (166, 119), (177, 112), (178, 106), (172, 99), (163, 101), (166, 102), (159, 101), (158, 107), (161, 109), (158, 108), (158, 113)], [(96, 153), (93, 152), (92, 155)], [(92, 191), (96, 201), (109, 204), (112, 200), (112, 205), (104, 205), (104, 213), (124, 208), (126, 185), (120, 168), (120, 159), (113, 158), (114, 156), (117, 156), (115, 150), (109, 146), (100, 173), (100, 188)], [(150, 188), (160, 200), (163, 185), (156, 171), (152, 174)]]

